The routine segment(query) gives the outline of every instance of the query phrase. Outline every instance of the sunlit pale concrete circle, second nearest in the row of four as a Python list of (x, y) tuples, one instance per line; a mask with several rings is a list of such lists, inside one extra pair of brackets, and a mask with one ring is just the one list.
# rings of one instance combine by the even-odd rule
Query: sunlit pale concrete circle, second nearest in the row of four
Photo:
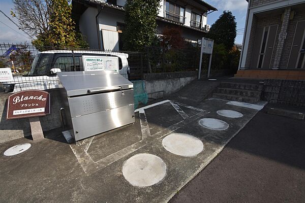
[(196, 156), (203, 150), (203, 143), (198, 138), (185, 133), (172, 133), (162, 140), (163, 147), (180, 156)]

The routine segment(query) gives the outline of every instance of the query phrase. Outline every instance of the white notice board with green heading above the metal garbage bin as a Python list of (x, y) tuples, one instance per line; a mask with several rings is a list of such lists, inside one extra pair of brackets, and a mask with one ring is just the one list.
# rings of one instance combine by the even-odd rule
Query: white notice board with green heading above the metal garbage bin
[(118, 73), (118, 57), (116, 56), (82, 56), (84, 71), (116, 71)]

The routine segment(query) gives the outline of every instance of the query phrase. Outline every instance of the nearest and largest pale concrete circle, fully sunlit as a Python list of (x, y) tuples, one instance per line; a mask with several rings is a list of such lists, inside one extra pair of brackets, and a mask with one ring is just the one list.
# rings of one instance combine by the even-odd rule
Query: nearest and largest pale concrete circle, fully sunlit
[(153, 154), (136, 154), (123, 165), (123, 176), (133, 186), (147, 187), (160, 182), (166, 174), (166, 164)]

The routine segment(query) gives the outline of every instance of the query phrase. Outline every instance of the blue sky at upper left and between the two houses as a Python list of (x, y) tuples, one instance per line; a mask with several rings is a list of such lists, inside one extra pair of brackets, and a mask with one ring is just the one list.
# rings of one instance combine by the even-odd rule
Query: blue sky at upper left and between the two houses
[[(245, 28), (245, 20), (247, 14), (248, 3), (246, 0), (205, 0), (205, 2), (216, 7), (218, 11), (208, 14), (207, 23), (212, 25), (222, 14), (224, 10), (229, 10), (236, 18), (238, 34), (235, 43), (241, 44), (243, 28)], [(11, 0), (0, 0), (0, 10), (10, 16), (10, 10), (14, 7)], [(13, 19), (17, 22), (16, 18)], [(6, 25), (5, 25), (5, 24)], [(9, 27), (8, 27), (9, 26)], [(0, 13), (0, 43), (3, 42), (31, 42), (26, 33), (19, 30), (16, 25), (9, 21), (2, 13)]]

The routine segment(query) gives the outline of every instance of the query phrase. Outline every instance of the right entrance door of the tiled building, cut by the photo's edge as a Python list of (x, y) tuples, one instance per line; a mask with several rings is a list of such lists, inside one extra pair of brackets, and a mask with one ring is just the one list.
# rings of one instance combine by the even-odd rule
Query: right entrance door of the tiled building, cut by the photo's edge
[(305, 21), (296, 24), (293, 43), (290, 51), (287, 68), (304, 69), (305, 63)]

